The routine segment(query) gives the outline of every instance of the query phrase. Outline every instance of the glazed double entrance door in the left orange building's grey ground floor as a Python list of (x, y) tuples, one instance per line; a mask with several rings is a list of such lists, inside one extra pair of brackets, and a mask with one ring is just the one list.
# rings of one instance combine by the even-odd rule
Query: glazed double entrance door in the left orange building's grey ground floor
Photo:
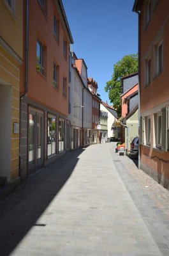
[(43, 164), (43, 113), (29, 109), (28, 175)]

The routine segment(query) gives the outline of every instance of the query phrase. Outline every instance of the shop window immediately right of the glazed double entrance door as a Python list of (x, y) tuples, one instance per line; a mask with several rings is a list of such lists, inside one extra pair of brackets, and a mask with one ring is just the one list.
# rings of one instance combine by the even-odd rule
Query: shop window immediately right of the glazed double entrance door
[(56, 117), (48, 114), (47, 156), (56, 154)]

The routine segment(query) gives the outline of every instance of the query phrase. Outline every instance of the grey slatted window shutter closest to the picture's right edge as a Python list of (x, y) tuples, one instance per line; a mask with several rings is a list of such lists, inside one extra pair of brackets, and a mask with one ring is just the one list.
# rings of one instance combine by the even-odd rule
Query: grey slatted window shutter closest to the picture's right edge
[(161, 150), (167, 151), (168, 149), (168, 107), (163, 108), (162, 112), (162, 120), (161, 120)]

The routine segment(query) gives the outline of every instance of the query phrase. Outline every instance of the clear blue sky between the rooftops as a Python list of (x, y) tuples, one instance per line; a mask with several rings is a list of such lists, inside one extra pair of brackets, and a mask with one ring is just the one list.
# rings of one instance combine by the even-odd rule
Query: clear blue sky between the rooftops
[(138, 52), (138, 17), (134, 0), (62, 0), (71, 34), (73, 51), (83, 58), (88, 77), (98, 83), (98, 93), (108, 101), (104, 88), (112, 78), (114, 64)]

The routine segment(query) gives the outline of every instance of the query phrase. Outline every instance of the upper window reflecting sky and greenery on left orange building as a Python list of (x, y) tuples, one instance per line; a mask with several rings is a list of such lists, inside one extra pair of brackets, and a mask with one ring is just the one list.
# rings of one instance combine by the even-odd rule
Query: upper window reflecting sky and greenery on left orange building
[(36, 69), (44, 75), (44, 47), (39, 40), (36, 42), (36, 60)]

